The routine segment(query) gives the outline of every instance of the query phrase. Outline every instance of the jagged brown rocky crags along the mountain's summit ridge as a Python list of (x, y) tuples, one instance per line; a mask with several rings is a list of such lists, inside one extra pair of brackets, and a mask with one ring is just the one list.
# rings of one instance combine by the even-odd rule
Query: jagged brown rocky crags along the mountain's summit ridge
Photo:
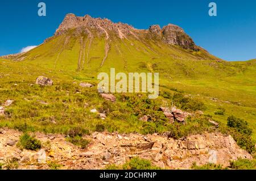
[[(137, 30), (134, 27), (124, 23), (113, 23), (109, 19), (92, 18), (89, 15), (79, 17), (74, 14), (65, 16), (63, 22), (55, 32), (55, 36), (67, 33), (69, 30), (75, 30), (75, 34), (85, 33), (92, 34), (92, 30), (96, 30), (100, 35), (106, 35), (106, 39), (110, 37), (111, 32), (120, 39), (129, 39), (130, 36), (139, 39), (144, 33), (156, 36), (163, 43), (169, 45), (177, 45), (184, 49), (198, 50), (191, 37), (189, 37), (182, 28), (168, 24), (162, 29), (159, 25), (150, 26), (148, 30)], [(111, 38), (111, 37), (110, 37)]]

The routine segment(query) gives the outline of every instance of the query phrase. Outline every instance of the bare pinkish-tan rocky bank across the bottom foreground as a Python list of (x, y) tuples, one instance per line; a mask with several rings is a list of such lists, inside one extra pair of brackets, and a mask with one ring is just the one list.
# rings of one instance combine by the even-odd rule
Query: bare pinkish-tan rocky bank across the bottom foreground
[(164, 169), (190, 169), (193, 162), (197, 165), (217, 163), (228, 166), (230, 160), (252, 158), (237, 146), (231, 136), (220, 133), (174, 140), (158, 134), (94, 132), (84, 137), (90, 140), (87, 149), (79, 149), (60, 134), (35, 133), (40, 141), (48, 142), (38, 151), (20, 150), (16, 144), (21, 134), (0, 129), (0, 163), (15, 158), (18, 169), (50, 169), (49, 162), (62, 165), (60, 169), (104, 169), (106, 165), (122, 165), (129, 158), (138, 156)]

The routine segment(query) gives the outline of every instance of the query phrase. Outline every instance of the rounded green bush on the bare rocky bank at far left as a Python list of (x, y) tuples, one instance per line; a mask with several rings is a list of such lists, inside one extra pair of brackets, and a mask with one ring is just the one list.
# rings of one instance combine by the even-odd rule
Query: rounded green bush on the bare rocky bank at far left
[(30, 136), (28, 133), (23, 133), (19, 138), (18, 146), (26, 150), (38, 150), (42, 147), (40, 140), (35, 136)]

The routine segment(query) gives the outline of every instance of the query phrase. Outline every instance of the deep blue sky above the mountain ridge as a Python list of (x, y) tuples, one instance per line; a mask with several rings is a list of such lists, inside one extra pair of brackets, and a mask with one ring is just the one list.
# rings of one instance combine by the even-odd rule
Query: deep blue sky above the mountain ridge
[[(38, 16), (38, 3), (45, 2), (47, 16)], [(210, 2), (217, 3), (217, 16), (208, 15)], [(184, 28), (197, 45), (224, 60), (256, 58), (255, 0), (9, 0), (0, 1), (0, 55), (17, 53), (39, 45), (72, 12), (78, 16), (108, 18), (135, 28), (147, 29), (173, 23)]]

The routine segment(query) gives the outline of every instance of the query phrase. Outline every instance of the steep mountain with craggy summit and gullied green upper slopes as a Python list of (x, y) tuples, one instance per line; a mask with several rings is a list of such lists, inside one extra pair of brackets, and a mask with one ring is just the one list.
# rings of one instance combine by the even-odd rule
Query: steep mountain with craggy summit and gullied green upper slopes
[[(65, 16), (55, 35), (22, 54), (3, 56), (54, 69), (133, 71), (138, 65), (154, 70), (172, 60), (220, 60), (195, 45), (182, 28), (168, 24), (137, 30), (124, 23), (89, 15)], [(162, 64), (162, 65), (160, 65)], [(157, 70), (157, 69), (155, 69)]]

